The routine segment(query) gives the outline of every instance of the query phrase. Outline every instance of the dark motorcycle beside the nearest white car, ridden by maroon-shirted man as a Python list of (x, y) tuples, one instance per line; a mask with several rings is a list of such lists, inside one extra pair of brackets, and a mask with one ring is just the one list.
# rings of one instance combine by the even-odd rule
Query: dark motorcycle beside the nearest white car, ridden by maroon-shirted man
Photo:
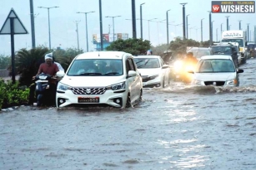
[(51, 104), (51, 101), (54, 98), (53, 88), (56, 88), (54, 87), (55, 85), (51, 83), (52, 80), (56, 80), (53, 75), (44, 73), (35, 77), (37, 106)]

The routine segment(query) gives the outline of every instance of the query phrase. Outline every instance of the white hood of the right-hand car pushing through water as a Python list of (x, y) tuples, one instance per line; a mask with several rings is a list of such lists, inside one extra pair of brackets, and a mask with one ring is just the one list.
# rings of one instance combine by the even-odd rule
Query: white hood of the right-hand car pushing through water
[(236, 78), (236, 73), (195, 73), (195, 80), (203, 80), (203, 81), (226, 81), (232, 80)]

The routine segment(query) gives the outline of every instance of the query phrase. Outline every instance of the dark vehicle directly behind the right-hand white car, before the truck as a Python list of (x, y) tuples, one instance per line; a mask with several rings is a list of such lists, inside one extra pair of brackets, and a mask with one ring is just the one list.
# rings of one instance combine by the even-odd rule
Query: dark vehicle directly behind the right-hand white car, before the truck
[[(236, 46), (233, 46), (236, 45)], [(238, 55), (238, 43), (237, 42), (221, 42), (215, 43), (214, 46), (211, 46), (213, 50), (213, 55), (228, 55), (232, 56), (232, 60), (236, 68), (241, 64), (242, 58), (241, 55)]]

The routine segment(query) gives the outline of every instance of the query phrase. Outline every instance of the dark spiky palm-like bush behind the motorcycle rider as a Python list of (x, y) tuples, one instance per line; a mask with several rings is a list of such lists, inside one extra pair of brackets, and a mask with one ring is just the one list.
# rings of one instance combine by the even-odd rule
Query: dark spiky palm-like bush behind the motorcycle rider
[(15, 60), (16, 71), (20, 75), (20, 85), (30, 85), (34, 75), (38, 73), (38, 68), (44, 62), (44, 55), (48, 48), (39, 46), (37, 48), (18, 51)]

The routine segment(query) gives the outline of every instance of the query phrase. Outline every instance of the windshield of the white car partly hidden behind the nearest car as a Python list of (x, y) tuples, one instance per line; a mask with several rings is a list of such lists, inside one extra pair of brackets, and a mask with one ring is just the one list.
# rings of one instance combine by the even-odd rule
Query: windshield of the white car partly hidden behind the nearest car
[(157, 58), (134, 58), (138, 69), (159, 68), (160, 64)]

